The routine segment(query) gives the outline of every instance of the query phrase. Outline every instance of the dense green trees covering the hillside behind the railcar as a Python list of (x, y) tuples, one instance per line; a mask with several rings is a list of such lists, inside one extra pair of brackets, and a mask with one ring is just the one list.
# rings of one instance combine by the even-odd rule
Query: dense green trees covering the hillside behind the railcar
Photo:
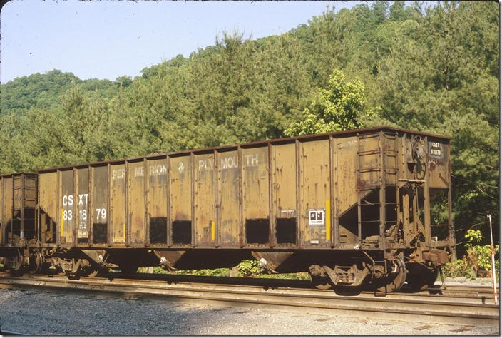
[(223, 33), (136, 78), (16, 78), (0, 86), (0, 171), (387, 124), (454, 137), (461, 242), (487, 213), (499, 219), (498, 13), (378, 1), (280, 36)]

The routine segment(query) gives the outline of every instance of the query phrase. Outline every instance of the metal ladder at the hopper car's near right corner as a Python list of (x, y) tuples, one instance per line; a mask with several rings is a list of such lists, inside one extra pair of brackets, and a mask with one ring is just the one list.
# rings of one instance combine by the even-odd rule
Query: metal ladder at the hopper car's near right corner
[[(372, 138), (377, 138), (378, 147), (375, 149), (366, 149), (362, 147), (363, 142), (368, 142)], [(396, 210), (396, 215), (399, 211), (399, 185), (398, 185), (398, 137), (397, 134), (388, 134), (380, 131), (379, 133), (372, 134), (360, 134), (357, 133), (357, 232), (359, 243), (362, 242), (362, 230), (364, 227), (369, 225), (379, 225), (379, 236), (384, 235), (386, 230), (386, 225), (396, 223), (396, 220), (388, 220), (387, 219), (387, 206), (393, 206)], [(393, 142), (392, 142), (393, 141)], [(394, 143), (394, 149), (388, 147)], [(376, 157), (376, 166), (368, 166), (367, 163), (371, 163), (369, 160), (371, 157)], [(394, 166), (387, 166), (389, 163), (388, 158), (394, 158)], [(365, 181), (362, 177), (367, 173), (377, 173), (376, 179), (371, 179), (372, 175), (370, 174), (369, 182)], [(394, 180), (392, 182), (386, 182), (388, 175), (394, 175)], [(389, 185), (389, 187), (387, 187)], [(396, 200), (395, 202), (387, 202), (386, 201), (386, 192), (390, 187), (394, 187), (396, 191)], [(366, 200), (370, 197), (372, 192), (378, 190), (379, 197), (376, 200)], [(379, 208), (378, 219), (367, 219), (365, 215), (372, 215), (372, 210), (375, 207)], [(373, 212), (375, 213), (375, 212)], [(396, 217), (397, 218), (397, 217)], [(385, 249), (384, 247), (382, 249)]]

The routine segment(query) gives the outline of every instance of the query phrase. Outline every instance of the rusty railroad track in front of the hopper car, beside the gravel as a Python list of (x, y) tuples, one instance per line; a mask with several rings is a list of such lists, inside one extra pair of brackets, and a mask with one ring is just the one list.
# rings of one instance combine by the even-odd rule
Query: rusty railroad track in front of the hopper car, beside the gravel
[[(406, 322), (499, 326), (499, 307), (493, 304), (489, 287), (447, 285), (446, 290), (441, 290), (440, 286), (436, 285), (427, 292), (410, 293), (405, 289), (404, 292), (379, 297), (374, 292), (339, 295), (333, 290), (306, 287), (304, 281), (220, 278), (233, 282), (223, 284), (208, 282), (206, 277), (179, 275), (155, 275), (155, 280), (143, 279), (148, 276), (125, 278), (111, 274), (107, 277), (68, 280), (58, 275), (12, 277), (0, 274), (0, 287), (98, 291), (126, 298), (170, 297), (183, 299), (185, 302), (203, 301), (229, 306), (307, 310), (309, 314), (372, 319), (391, 317), (393, 320)], [(243, 285), (242, 280), (247, 280), (247, 285)]]

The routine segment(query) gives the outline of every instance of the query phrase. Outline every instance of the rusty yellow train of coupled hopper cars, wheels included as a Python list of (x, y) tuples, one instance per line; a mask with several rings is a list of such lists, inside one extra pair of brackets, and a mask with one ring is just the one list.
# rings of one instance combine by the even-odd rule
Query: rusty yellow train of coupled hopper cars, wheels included
[(424, 288), (454, 255), (449, 142), (375, 127), (4, 175), (0, 256), (69, 277), (254, 257), (321, 288)]

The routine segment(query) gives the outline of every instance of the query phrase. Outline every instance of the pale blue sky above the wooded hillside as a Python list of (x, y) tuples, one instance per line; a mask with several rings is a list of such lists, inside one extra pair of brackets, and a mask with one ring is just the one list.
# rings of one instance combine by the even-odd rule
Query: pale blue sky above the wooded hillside
[(257, 39), (307, 24), (328, 4), (339, 11), (361, 2), (14, 0), (0, 13), (0, 83), (52, 69), (81, 79), (139, 76), (214, 45), (222, 30)]

